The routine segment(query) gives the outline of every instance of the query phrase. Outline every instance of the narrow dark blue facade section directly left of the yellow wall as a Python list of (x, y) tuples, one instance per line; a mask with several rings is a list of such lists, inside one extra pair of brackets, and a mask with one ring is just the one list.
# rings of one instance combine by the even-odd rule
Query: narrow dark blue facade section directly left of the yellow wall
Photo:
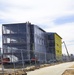
[(51, 59), (55, 60), (55, 37), (54, 37), (54, 33), (47, 33), (48, 36), (48, 50), (47, 52), (51, 54)]

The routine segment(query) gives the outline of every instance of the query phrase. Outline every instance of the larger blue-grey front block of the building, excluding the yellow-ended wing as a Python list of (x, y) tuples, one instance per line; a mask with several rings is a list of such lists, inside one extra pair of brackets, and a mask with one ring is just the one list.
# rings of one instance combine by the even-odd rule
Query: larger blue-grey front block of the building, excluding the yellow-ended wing
[(42, 54), (39, 58), (37, 52), (46, 53), (46, 32), (31, 23), (3, 24), (3, 53), (12, 53), (21, 60), (21, 50), (24, 60), (37, 57), (38, 60), (45, 60)]

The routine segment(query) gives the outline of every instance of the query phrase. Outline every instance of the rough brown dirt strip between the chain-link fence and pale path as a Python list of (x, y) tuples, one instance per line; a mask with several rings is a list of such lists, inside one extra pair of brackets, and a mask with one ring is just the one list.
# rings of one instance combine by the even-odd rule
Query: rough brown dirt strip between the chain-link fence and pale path
[(56, 65), (56, 64), (60, 64), (60, 63), (42, 64), (39, 66), (34, 65), (34, 66), (28, 66), (26, 68), (20, 68), (20, 69), (4, 69), (3, 71), (2, 71), (2, 67), (0, 65), (0, 75), (27, 75), (26, 72), (28, 72), (28, 71), (34, 71), (39, 68), (48, 67), (48, 66), (52, 66), (52, 65)]

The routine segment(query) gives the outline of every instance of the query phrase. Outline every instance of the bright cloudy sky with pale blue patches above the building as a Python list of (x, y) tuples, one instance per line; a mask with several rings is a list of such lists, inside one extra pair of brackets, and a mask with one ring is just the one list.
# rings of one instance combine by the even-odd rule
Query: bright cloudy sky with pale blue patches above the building
[(0, 0), (0, 47), (1, 25), (26, 21), (57, 32), (74, 54), (74, 0)]

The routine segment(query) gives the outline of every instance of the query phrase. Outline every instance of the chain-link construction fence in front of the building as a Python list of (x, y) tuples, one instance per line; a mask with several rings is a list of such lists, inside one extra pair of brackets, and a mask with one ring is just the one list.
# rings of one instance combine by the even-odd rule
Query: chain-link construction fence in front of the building
[(1, 54), (1, 69), (3, 73), (5, 70), (13, 69), (15, 72), (17, 69), (24, 70), (27, 67), (39, 67), (42, 64), (52, 64), (55, 62), (57, 61), (53, 53), (12, 49)]

